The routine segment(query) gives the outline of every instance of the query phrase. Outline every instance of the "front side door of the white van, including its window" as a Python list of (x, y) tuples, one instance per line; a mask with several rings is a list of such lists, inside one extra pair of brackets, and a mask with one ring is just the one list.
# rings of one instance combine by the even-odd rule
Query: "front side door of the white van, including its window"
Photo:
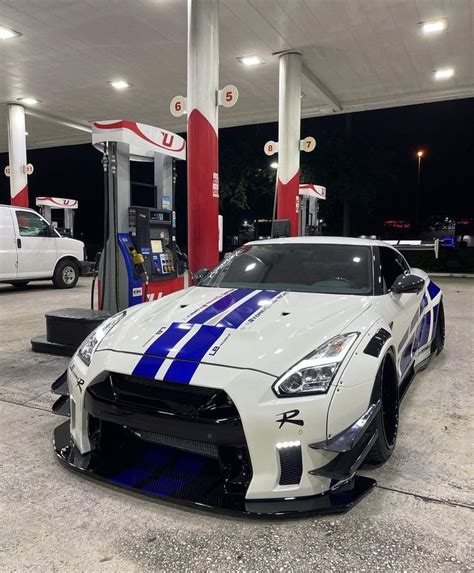
[(56, 235), (38, 213), (15, 209), (18, 279), (50, 278), (56, 265)]

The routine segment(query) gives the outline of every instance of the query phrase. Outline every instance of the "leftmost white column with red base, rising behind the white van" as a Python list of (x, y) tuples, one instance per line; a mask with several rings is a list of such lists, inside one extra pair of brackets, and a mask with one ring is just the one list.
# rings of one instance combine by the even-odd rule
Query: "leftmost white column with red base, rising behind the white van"
[(16, 103), (8, 104), (8, 158), (11, 204), (28, 207), (25, 109)]

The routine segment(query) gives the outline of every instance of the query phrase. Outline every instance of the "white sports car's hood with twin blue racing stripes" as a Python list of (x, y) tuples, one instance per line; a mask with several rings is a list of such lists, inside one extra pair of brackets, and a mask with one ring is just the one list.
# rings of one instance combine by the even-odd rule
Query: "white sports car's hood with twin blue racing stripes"
[(128, 311), (100, 350), (280, 376), (370, 306), (364, 296), (192, 287)]

